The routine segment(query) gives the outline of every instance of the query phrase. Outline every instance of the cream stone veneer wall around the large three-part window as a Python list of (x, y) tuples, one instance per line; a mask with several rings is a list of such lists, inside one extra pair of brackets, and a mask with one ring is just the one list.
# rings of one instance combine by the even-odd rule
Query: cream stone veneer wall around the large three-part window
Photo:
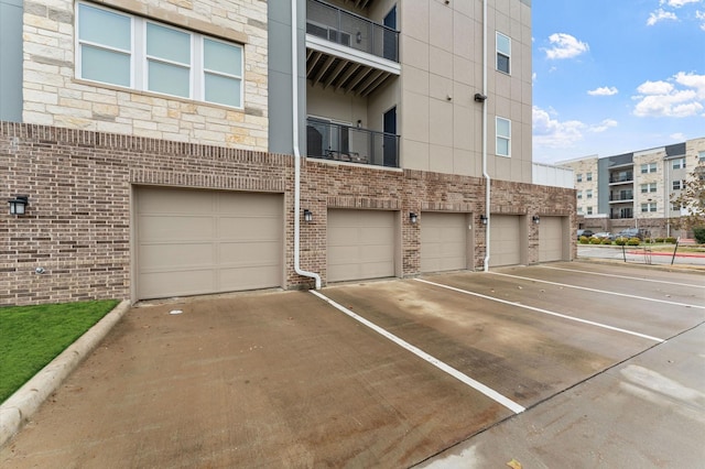
[(73, 0), (24, 2), (25, 123), (240, 149), (268, 149), (267, 2), (96, 0), (245, 46), (243, 108), (76, 79)]

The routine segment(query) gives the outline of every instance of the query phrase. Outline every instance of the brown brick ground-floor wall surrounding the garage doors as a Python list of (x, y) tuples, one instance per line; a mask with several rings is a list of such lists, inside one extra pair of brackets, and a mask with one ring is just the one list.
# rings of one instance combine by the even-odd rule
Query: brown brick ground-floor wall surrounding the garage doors
[[(481, 178), (393, 171), (304, 159), (302, 268), (326, 279), (328, 208), (401, 210), (400, 276), (420, 271), (424, 211), (475, 215), (484, 207)], [(0, 305), (129, 298), (133, 185), (284, 194), (285, 285), (312, 286), (293, 268), (293, 156), (76, 129), (0, 122), (0, 187), (30, 197), (28, 214), (0, 211)], [(421, 215), (411, 225), (406, 215)], [(572, 189), (492, 182), (494, 214), (567, 216)], [(539, 229), (528, 221), (528, 262), (539, 260)], [(485, 231), (475, 233), (474, 265), (482, 265)], [(572, 230), (571, 237), (575, 237)], [(572, 244), (571, 259), (576, 255)], [(36, 274), (35, 268), (45, 269)]]

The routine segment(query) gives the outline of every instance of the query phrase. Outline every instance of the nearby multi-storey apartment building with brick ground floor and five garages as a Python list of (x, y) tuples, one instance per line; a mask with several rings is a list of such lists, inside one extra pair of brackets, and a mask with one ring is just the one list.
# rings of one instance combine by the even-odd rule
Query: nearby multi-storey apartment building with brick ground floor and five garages
[(574, 190), (532, 183), (530, 0), (0, 8), (2, 304), (575, 258)]

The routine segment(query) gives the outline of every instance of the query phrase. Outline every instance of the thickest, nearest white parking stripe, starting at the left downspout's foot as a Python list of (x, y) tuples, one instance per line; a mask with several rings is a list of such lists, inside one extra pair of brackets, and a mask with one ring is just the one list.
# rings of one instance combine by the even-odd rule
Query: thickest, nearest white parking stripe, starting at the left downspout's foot
[(321, 299), (329, 303), (332, 306), (336, 307), (337, 309), (339, 309), (340, 312), (345, 313), (346, 315), (350, 316), (352, 319), (355, 319), (355, 320), (364, 324), (365, 326), (369, 327), (370, 329), (372, 329), (377, 334), (380, 334), (381, 336), (388, 338), (389, 340), (391, 340), (392, 342), (397, 343), (398, 346), (403, 347), (404, 349), (409, 350), (410, 352), (412, 352), (416, 357), (427, 361), (429, 363), (433, 364), (434, 367), (438, 368), (440, 370), (445, 371), (446, 373), (448, 373), (449, 375), (452, 375), (456, 380), (467, 384), (468, 386), (473, 388), (474, 390), (481, 392), (482, 394), (485, 394), (486, 396), (488, 396), (492, 401), (495, 401), (495, 402), (503, 405), (505, 407), (509, 408), (514, 414), (519, 414), (519, 413), (525, 411), (525, 408), (523, 406), (517, 404), (514, 401), (512, 401), (512, 400), (510, 400), (508, 397), (505, 397), (503, 395), (501, 395), (497, 391), (492, 390), (491, 388), (486, 386), (485, 384), (480, 383), (479, 381), (476, 381), (476, 380), (471, 379), (467, 374), (456, 370), (455, 368), (451, 367), (449, 364), (444, 363), (443, 361), (438, 360), (437, 358), (424, 352), (420, 348), (412, 346), (411, 343), (406, 342), (405, 340), (400, 339), (399, 337), (394, 336), (393, 334), (389, 332), (388, 330), (379, 327), (375, 323), (371, 323), (371, 321), (365, 319), (360, 315), (351, 312), (350, 309), (348, 309), (345, 306), (340, 305), (339, 303), (336, 303), (335, 301), (328, 298), (327, 296), (323, 295), (322, 293), (316, 292), (315, 290), (310, 290), (310, 292), (313, 293), (314, 295), (316, 295), (317, 297), (319, 297)]

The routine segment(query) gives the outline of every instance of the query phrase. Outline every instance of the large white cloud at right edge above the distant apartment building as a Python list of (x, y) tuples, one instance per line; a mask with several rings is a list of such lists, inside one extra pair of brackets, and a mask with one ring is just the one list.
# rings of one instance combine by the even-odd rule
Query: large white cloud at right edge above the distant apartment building
[(637, 91), (637, 117), (705, 117), (705, 75), (680, 72), (668, 81), (646, 81)]

